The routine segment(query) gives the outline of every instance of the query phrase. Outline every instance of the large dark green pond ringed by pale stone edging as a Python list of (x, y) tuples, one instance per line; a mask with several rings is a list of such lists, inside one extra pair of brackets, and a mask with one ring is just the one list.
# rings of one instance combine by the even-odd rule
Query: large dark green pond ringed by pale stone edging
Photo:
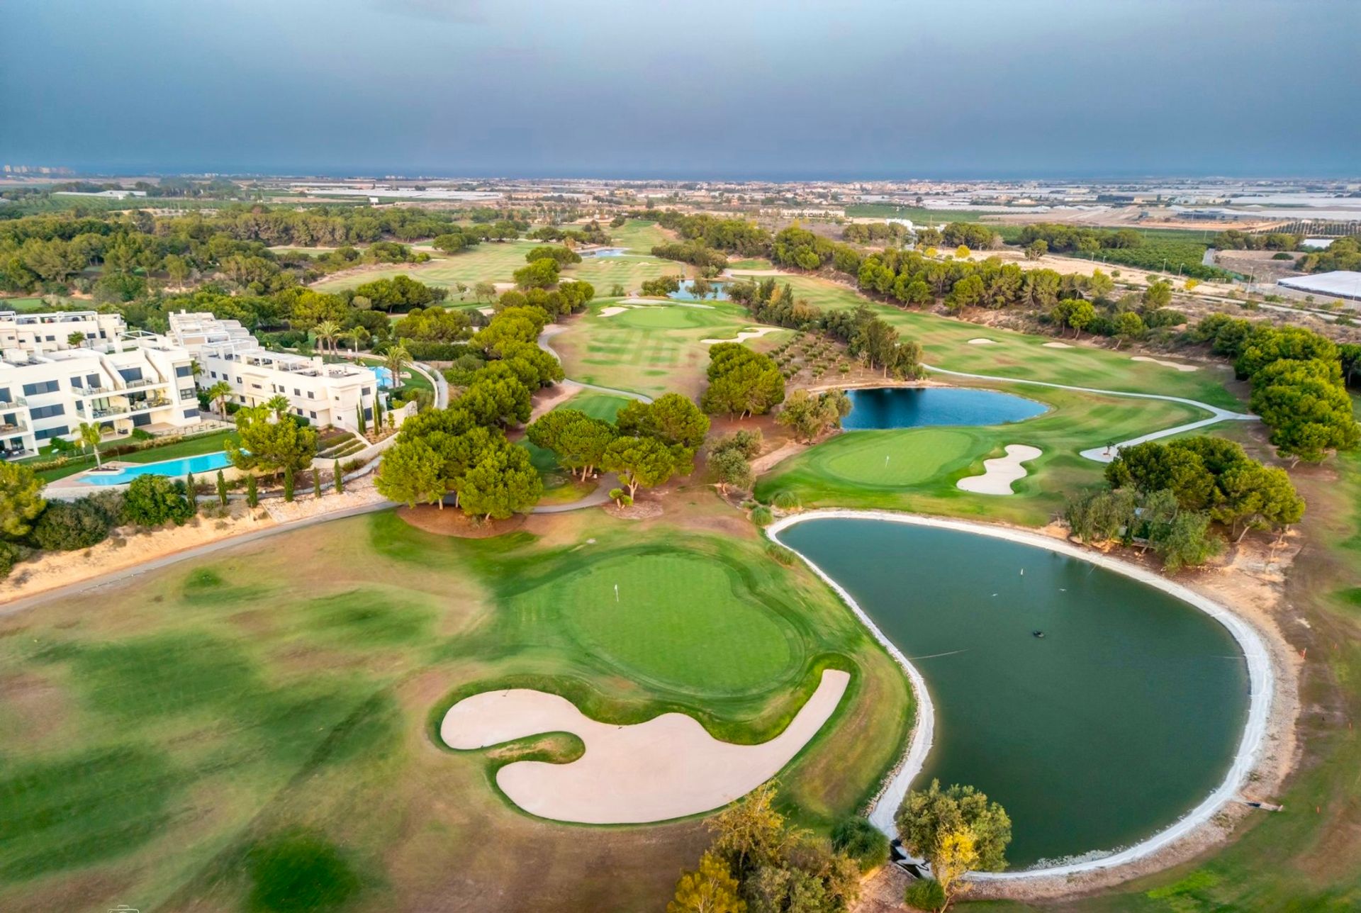
[(925, 678), (935, 740), (913, 788), (936, 777), (1000, 801), (1013, 869), (1136, 844), (1229, 770), (1247, 661), (1222, 625), (1176, 597), (953, 529), (817, 518), (780, 540)]

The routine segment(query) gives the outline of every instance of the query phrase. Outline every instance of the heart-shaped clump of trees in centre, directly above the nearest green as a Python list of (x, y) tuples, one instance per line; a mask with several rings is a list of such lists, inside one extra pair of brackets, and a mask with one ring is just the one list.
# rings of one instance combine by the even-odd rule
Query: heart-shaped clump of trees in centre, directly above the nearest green
[[(527, 429), (532, 444), (581, 479), (599, 469), (617, 472), (629, 502), (640, 487), (694, 472), (694, 454), (708, 433), (709, 418), (679, 393), (630, 401), (612, 425), (578, 410), (554, 410)], [(623, 501), (622, 491), (611, 494)]]

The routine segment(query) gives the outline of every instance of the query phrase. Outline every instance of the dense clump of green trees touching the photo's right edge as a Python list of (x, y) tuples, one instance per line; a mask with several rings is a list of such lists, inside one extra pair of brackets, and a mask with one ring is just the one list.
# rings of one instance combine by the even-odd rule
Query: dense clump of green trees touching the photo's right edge
[[(1204, 317), (1191, 339), (1232, 358), (1237, 376), (1252, 384), (1249, 405), (1271, 429), (1281, 456), (1319, 463), (1331, 450), (1361, 444), (1342, 374), (1343, 352), (1331, 339), (1302, 327), (1253, 324), (1228, 314)], [(1349, 350), (1351, 365), (1356, 352)]]

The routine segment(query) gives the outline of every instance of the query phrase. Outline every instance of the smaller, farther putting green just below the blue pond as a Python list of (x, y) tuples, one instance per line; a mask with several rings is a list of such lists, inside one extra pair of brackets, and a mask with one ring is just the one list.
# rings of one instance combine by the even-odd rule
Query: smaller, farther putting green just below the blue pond
[(966, 463), (977, 446), (977, 437), (968, 431), (856, 431), (823, 444), (813, 464), (847, 482), (891, 488), (919, 484), (954, 463)]

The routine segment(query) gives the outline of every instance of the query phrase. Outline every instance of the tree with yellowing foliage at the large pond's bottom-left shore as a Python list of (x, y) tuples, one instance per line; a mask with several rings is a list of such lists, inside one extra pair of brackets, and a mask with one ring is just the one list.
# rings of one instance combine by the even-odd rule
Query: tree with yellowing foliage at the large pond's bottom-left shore
[(940, 781), (932, 780), (927, 789), (904, 796), (894, 823), (904, 849), (931, 863), (934, 879), (908, 887), (906, 902), (915, 908), (945, 910), (969, 889), (969, 872), (1007, 867), (1011, 818), (973, 786), (940, 789)]

